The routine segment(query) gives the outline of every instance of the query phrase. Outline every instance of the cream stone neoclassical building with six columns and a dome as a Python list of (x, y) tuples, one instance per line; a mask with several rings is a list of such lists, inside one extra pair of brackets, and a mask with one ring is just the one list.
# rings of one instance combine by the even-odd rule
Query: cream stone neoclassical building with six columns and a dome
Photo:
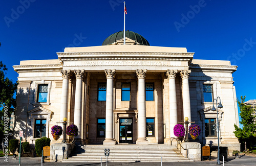
[[(126, 44), (121, 31), (101, 46), (66, 48), (58, 59), (13, 66), (19, 81), (15, 136), (23, 130), (31, 144), (43, 136), (55, 143), (51, 127), (67, 117), (81, 145), (170, 144), (174, 126), (188, 117), (201, 127), (196, 141), (215, 145), (219, 116), (221, 145), (239, 150), (233, 134), (239, 125), (232, 78), (237, 66), (125, 34)], [(211, 110), (217, 97), (223, 105), (218, 115)]]

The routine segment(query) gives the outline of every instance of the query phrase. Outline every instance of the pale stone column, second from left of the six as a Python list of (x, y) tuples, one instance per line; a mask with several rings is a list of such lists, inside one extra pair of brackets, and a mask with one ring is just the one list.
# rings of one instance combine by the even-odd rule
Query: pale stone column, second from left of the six
[(82, 108), (82, 79), (84, 70), (74, 70), (76, 76), (76, 92), (75, 92), (75, 111), (74, 111), (74, 124), (78, 127), (78, 135), (75, 137), (81, 139), (81, 108)]

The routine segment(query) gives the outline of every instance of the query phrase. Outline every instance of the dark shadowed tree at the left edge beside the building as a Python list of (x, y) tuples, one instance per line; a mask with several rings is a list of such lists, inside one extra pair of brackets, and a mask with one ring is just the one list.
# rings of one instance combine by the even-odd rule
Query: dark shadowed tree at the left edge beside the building
[(13, 83), (5, 77), (7, 70), (6, 65), (0, 61), (0, 140), (3, 139), (4, 134), (9, 133), (11, 113), (16, 107), (13, 95), (17, 91), (17, 82)]

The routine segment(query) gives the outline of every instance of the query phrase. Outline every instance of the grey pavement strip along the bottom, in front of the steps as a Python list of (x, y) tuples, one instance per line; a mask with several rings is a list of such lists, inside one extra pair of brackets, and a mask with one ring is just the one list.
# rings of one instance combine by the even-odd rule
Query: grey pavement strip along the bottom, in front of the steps
[[(201, 166), (201, 165), (216, 165), (217, 158), (214, 158), (213, 160), (205, 160), (205, 161), (195, 161), (195, 162), (163, 162), (163, 166), (167, 165), (193, 165), (193, 166)], [(224, 163), (225, 165), (256, 165), (256, 157), (251, 156), (239, 156), (239, 159), (234, 159), (234, 157), (228, 157), (228, 161)], [(4, 157), (0, 157), (0, 165), (19, 165), (19, 159), (12, 159), (12, 156), (9, 156), (8, 162), (4, 161)], [(41, 158), (40, 157), (22, 157), (20, 160), (20, 165), (29, 166), (29, 165), (41, 165)], [(76, 162), (76, 163), (69, 163), (69, 162), (45, 162), (43, 165), (61, 165), (61, 166), (100, 166), (99, 163), (88, 163), (88, 162)], [(105, 166), (106, 163), (102, 163), (102, 166)], [(124, 165), (146, 165), (146, 166), (156, 166), (161, 165), (160, 162), (134, 162), (131, 161), (129, 163), (119, 163), (119, 162), (109, 162), (109, 166), (124, 166)], [(222, 165), (222, 161), (221, 161)]]

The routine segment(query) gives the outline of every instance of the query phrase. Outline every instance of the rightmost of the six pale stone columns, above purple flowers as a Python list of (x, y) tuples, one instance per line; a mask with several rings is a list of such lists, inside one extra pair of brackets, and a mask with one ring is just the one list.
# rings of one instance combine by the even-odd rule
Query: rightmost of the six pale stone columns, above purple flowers
[(190, 111), (190, 96), (189, 96), (189, 84), (188, 77), (191, 73), (191, 70), (181, 70), (182, 78), (182, 99), (183, 99), (183, 116), (188, 117), (188, 120), (191, 121), (191, 111)]

